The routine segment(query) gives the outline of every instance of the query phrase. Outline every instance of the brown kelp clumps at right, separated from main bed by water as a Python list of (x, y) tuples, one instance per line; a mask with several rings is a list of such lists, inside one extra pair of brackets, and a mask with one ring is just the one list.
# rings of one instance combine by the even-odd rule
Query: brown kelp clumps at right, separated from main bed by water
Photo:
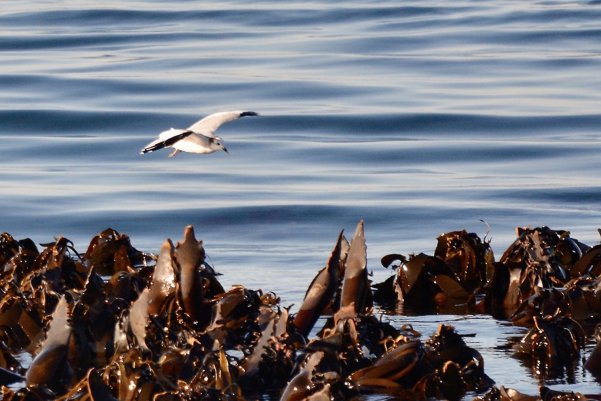
[[(380, 302), (380, 295), (385, 295), (385, 307), (390, 307), (386, 301), (393, 301), (397, 308), (394, 302), (411, 310), (444, 310), (448, 298), (461, 294), (453, 290), (456, 285), (445, 289), (440, 284), (444, 277), (469, 293), (472, 311), (509, 317), (531, 329), (513, 349), (536, 366), (533, 371), (548, 377), (553, 377), (552, 371), (563, 375), (561, 369), (573, 370), (581, 357), (585, 332), (590, 334), (601, 319), (597, 276), (601, 250), (573, 239), (568, 231), (548, 227), (517, 228), (517, 235), (499, 262), (485, 250), (486, 242), (465, 231), (441, 235), (435, 256), (385, 256), (384, 266), (400, 263), (394, 266), (394, 281), (376, 284), (375, 298)], [(391, 291), (394, 283), (398, 284)], [(458, 302), (461, 299), (454, 304)], [(599, 353), (593, 352), (585, 366), (596, 370), (598, 358)]]

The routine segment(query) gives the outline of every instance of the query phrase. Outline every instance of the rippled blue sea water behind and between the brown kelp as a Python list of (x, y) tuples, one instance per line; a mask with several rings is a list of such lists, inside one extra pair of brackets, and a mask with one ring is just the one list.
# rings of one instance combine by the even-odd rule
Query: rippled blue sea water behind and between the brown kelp
[[(594, 245), (600, 20), (599, 1), (0, 2), (0, 232), (85, 251), (112, 227), (157, 253), (193, 224), (225, 285), (295, 305), (360, 219), (375, 281), (481, 219), (497, 257), (518, 226)], [(139, 155), (228, 110), (263, 115), (219, 129), (230, 155)], [(494, 345), (519, 329), (449, 319), (498, 385), (537, 393)]]

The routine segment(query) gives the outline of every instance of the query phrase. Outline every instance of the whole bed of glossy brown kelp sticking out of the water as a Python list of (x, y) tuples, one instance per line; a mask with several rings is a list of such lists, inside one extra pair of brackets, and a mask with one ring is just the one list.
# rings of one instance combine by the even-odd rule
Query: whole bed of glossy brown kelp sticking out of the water
[[(432, 311), (467, 302), (530, 328), (514, 352), (549, 366), (585, 357), (601, 322), (601, 245), (548, 227), (519, 229), (495, 261), (466, 231), (438, 238), (435, 254), (391, 254), (394, 274), (371, 283), (363, 224), (343, 233), (296, 313), (275, 293), (224, 289), (192, 227), (158, 256), (108, 229), (84, 254), (60, 237), (41, 245), (0, 236), (0, 385), (3, 400), (585, 400), (495, 384), (478, 350), (453, 326), (429, 338), (395, 327), (374, 305)], [(321, 320), (319, 320), (321, 318)], [(317, 322), (323, 327), (315, 327)], [(598, 331), (598, 330), (597, 330)], [(313, 334), (312, 334), (313, 333)], [(28, 352), (29, 367), (14, 355)], [(601, 350), (585, 369), (601, 372)]]

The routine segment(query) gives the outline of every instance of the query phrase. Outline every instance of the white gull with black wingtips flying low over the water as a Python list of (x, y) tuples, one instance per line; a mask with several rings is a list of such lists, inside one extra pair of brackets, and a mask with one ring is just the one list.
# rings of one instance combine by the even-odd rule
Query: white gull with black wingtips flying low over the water
[(190, 153), (213, 153), (225, 148), (223, 139), (213, 133), (228, 121), (236, 118), (246, 117), (248, 115), (259, 115), (254, 111), (224, 111), (204, 117), (202, 120), (192, 124), (188, 129), (175, 129), (163, 131), (159, 134), (159, 139), (146, 145), (140, 155), (154, 152), (164, 147), (174, 148), (174, 152), (169, 154), (169, 158), (180, 152)]

